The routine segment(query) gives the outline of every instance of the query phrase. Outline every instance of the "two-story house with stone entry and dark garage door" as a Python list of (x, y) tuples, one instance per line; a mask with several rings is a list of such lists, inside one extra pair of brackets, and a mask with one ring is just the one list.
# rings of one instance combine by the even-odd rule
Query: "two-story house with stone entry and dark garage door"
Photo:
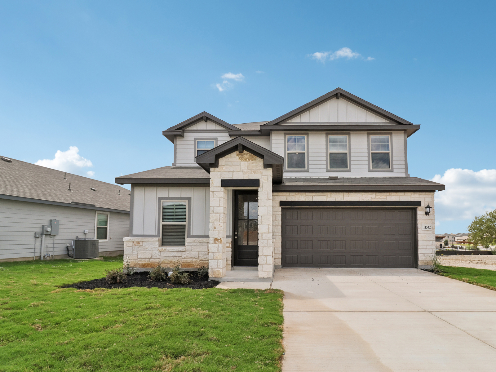
[(220, 278), (256, 266), (428, 267), (434, 192), (410, 177), (414, 125), (337, 88), (270, 122), (206, 112), (164, 130), (174, 163), (127, 176), (124, 257), (150, 268), (208, 265)]

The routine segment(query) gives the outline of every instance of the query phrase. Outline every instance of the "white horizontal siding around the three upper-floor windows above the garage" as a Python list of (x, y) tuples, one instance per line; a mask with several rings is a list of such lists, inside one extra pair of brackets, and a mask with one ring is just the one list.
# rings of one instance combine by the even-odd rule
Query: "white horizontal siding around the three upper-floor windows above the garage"
[[(405, 167), (405, 137), (400, 131), (392, 132), (392, 172), (369, 172), (368, 132), (351, 132), (351, 172), (336, 172), (339, 177), (406, 177)], [(327, 172), (326, 167), (326, 132), (308, 132), (309, 136), (309, 171), (285, 172), (285, 177), (327, 177), (333, 172)], [(272, 151), (285, 157), (284, 132), (272, 132)]]

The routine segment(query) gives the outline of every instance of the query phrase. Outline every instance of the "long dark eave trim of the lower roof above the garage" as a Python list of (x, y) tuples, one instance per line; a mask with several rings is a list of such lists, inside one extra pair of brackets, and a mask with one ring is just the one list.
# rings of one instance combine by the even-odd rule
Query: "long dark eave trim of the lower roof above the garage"
[(387, 192), (405, 192), (405, 191), (425, 191), (434, 192), (442, 191), (446, 186), (438, 185), (274, 185), (272, 191), (329, 191), (329, 192), (356, 192), (356, 191), (387, 191)]

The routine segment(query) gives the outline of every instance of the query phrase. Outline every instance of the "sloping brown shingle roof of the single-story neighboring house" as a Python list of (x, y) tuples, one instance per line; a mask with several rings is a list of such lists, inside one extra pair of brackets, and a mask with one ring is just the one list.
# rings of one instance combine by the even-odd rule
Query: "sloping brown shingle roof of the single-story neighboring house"
[(12, 162), (0, 160), (1, 199), (129, 213), (129, 190), (122, 186), (9, 160)]

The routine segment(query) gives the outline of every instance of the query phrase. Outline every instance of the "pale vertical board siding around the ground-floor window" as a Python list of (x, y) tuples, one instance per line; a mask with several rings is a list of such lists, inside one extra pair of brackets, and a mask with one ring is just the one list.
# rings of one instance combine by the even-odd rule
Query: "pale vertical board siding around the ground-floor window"
[(209, 235), (209, 187), (168, 187), (132, 186), (132, 231), (131, 236), (160, 236), (160, 197), (191, 198), (188, 206), (189, 236), (207, 237)]

